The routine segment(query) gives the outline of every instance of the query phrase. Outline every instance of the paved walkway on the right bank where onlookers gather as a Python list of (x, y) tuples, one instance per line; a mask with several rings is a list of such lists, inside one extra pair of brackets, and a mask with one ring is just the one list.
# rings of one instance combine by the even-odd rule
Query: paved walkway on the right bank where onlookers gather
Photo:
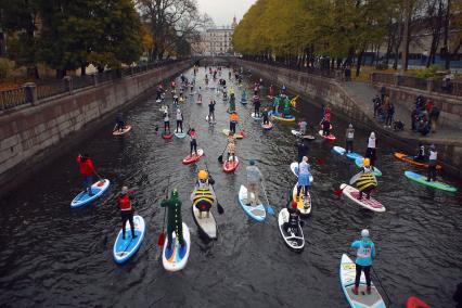
[[(374, 87), (367, 82), (360, 81), (348, 81), (342, 82), (342, 87), (350, 95), (351, 99), (364, 111), (364, 113), (376, 123), (377, 126), (383, 128), (383, 124), (373, 118), (374, 107), (372, 99), (378, 93)], [(402, 138), (409, 138), (419, 140), (424, 143), (444, 143), (444, 144), (462, 144), (462, 130), (444, 125), (441, 121), (438, 123), (437, 131), (435, 133), (428, 133), (422, 136), (419, 132), (411, 131), (411, 111), (408, 110), (403, 104), (399, 102), (393, 102), (395, 104), (395, 119), (400, 119), (405, 124), (403, 131), (395, 131), (396, 134)], [(387, 128), (392, 130), (393, 128)]]

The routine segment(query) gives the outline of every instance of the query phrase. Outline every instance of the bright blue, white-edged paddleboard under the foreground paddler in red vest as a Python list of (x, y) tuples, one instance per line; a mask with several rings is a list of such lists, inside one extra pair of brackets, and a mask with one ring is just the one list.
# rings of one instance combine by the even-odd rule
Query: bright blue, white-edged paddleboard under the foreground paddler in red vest
[(133, 256), (141, 246), (144, 239), (145, 224), (141, 216), (133, 216), (136, 239), (131, 236), (130, 222), (125, 224), (125, 240), (121, 238), (121, 229), (114, 243), (113, 257), (116, 264), (124, 264)]

